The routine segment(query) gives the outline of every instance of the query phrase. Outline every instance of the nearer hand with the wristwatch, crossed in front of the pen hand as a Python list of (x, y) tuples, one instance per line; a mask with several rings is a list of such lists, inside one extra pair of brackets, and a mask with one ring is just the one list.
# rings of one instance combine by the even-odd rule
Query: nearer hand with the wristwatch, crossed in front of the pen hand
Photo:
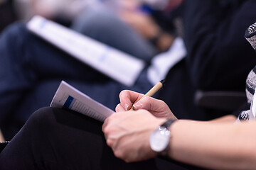
[(102, 131), (116, 157), (137, 162), (156, 157), (149, 145), (149, 136), (165, 121), (145, 110), (119, 112), (105, 120)]

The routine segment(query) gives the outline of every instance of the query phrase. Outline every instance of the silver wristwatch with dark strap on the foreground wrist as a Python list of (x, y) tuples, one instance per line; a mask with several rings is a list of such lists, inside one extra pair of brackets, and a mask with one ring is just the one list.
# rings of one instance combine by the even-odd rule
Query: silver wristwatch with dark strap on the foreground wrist
[(171, 137), (169, 128), (174, 122), (175, 120), (167, 120), (164, 124), (156, 128), (156, 130), (154, 130), (150, 135), (150, 147), (160, 156), (166, 156), (168, 154), (169, 141)]

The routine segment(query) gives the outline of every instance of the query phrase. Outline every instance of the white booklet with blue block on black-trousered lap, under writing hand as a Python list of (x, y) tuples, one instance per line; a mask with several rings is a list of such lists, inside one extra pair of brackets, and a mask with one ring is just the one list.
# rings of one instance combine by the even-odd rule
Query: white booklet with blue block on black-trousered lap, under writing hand
[(65, 81), (61, 81), (50, 107), (68, 108), (102, 122), (114, 113), (110, 108), (103, 106)]

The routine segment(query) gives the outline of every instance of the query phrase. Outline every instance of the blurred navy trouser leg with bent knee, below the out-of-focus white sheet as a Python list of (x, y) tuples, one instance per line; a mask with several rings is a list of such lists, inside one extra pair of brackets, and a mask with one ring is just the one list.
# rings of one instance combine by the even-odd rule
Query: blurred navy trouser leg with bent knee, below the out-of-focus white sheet
[[(7, 28), (0, 38), (0, 126), (9, 121), (43, 79), (83, 79), (105, 81), (107, 77), (74, 60), (57, 48), (32, 35), (24, 24)], [(86, 73), (86, 76), (85, 76)], [(99, 77), (97, 80), (95, 77)], [(43, 96), (37, 96), (40, 98)], [(33, 106), (33, 103), (31, 103)]]

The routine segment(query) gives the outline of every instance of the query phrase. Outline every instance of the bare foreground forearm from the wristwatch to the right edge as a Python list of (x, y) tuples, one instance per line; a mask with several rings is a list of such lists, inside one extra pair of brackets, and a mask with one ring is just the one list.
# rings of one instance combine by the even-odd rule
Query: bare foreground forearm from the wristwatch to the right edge
[(181, 120), (171, 126), (169, 156), (210, 169), (255, 169), (255, 124), (199, 123)]

